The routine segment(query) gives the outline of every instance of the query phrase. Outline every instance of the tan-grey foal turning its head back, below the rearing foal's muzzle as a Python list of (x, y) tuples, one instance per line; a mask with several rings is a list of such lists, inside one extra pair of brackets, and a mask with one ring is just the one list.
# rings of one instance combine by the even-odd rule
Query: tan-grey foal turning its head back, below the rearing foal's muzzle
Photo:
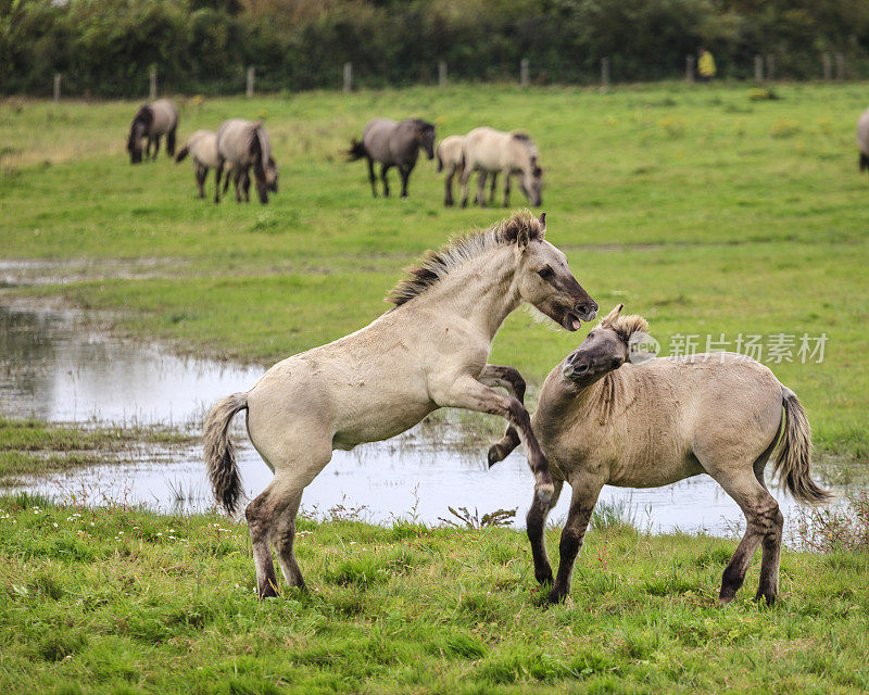
[[(658, 488), (708, 473), (740, 506), (745, 534), (721, 578), (719, 604), (730, 603), (763, 543), (756, 599), (776, 601), (784, 519), (767, 490), (764, 468), (778, 443), (774, 471), (794, 497), (809, 504), (831, 495), (810, 475), (811, 430), (791, 389), (764, 365), (733, 353), (654, 358), (635, 350), (647, 338), (640, 316), (616, 306), (546, 377), (531, 426), (555, 479), (549, 502), (527, 517), (534, 577), (552, 584), (543, 542), (546, 516), (564, 481), (572, 496), (559, 541), (559, 566), (549, 601), (570, 591), (570, 576), (604, 484)], [(642, 355), (629, 361), (634, 355)], [(779, 434), (783, 431), (781, 440)], [(503, 459), (514, 432), (490, 451)]]

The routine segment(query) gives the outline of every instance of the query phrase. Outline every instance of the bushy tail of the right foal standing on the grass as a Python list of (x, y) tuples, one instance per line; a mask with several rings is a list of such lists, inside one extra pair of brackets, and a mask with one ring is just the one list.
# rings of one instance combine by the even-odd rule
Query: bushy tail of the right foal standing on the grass
[(788, 387), (781, 388), (784, 406), (784, 433), (779, 441), (776, 456), (776, 473), (784, 481), (784, 486), (797, 500), (808, 504), (819, 504), (832, 497), (811, 479), (811, 428), (803, 404)]

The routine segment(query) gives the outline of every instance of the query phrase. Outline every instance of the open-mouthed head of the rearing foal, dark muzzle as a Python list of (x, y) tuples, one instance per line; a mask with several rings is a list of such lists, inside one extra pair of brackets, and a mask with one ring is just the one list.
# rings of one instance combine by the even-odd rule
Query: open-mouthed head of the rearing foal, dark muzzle
[(567, 330), (594, 320), (597, 303), (582, 289), (567, 256), (544, 239), (546, 213), (516, 232), (517, 286), (521, 299)]

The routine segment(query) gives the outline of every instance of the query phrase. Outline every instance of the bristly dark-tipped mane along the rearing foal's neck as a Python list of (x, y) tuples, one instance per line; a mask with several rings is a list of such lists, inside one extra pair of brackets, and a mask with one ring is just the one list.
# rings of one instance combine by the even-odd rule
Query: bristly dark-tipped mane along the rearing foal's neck
[(530, 211), (513, 213), (507, 219), (488, 229), (454, 237), (437, 251), (426, 251), (415, 265), (405, 268), (404, 277), (387, 294), (386, 300), (395, 306), (410, 302), (436, 285), (450, 270), (495, 247), (514, 243), (519, 232), (528, 231), (533, 241), (543, 238), (544, 227)]

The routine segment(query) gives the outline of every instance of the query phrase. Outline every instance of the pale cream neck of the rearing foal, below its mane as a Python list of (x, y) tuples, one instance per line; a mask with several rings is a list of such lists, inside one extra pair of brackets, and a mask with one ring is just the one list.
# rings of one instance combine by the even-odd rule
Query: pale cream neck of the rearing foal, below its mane
[(452, 268), (420, 299), (479, 326), (491, 341), (504, 319), (521, 304), (512, 244), (499, 245)]

